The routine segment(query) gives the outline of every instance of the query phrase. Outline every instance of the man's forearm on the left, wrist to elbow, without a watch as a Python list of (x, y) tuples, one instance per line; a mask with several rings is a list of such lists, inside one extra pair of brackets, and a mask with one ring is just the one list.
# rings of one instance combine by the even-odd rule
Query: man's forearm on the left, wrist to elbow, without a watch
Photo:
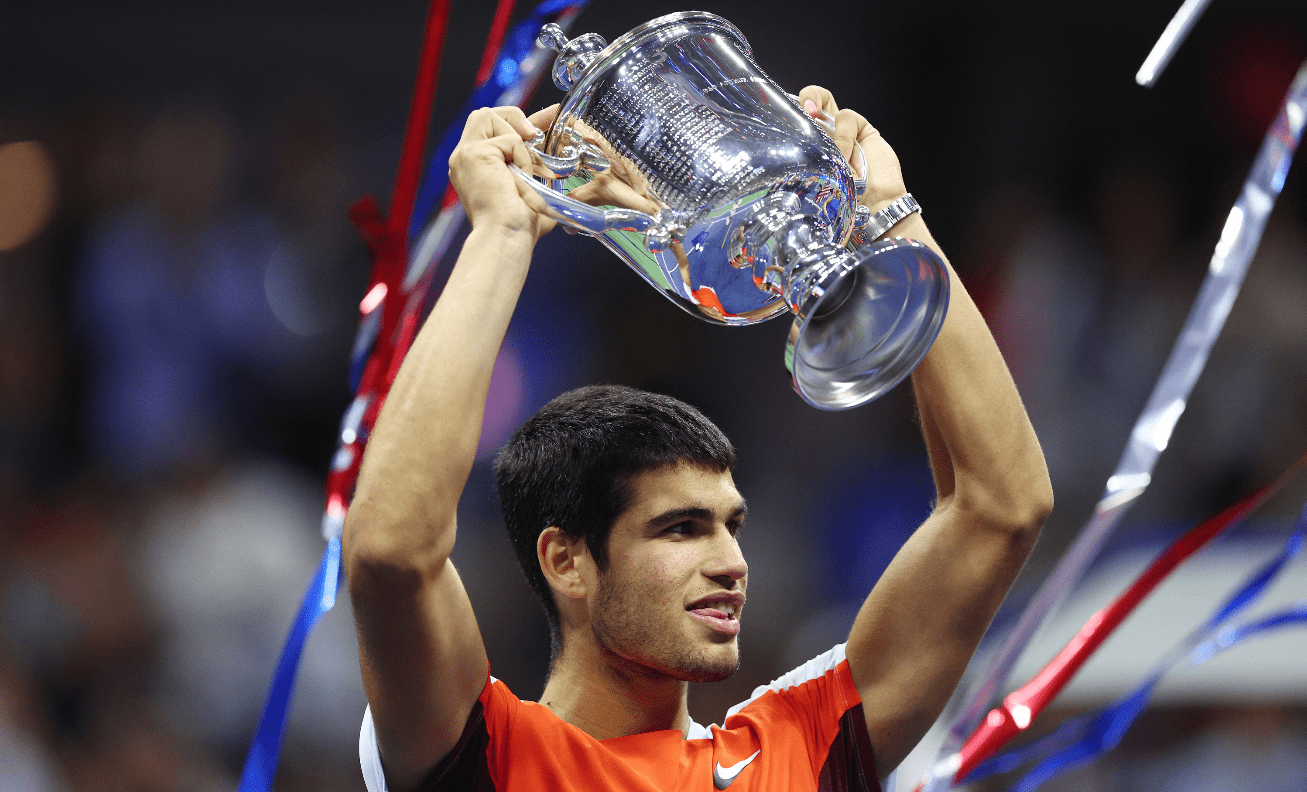
[(349, 558), (404, 558), (426, 569), (448, 558), (490, 372), (533, 242), (485, 226), (464, 243), (369, 439), (345, 527)]

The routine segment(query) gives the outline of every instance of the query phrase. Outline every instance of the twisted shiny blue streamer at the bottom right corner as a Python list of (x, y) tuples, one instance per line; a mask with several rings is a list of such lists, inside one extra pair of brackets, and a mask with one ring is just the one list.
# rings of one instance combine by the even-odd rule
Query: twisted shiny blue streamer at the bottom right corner
[(1026, 762), (1047, 757), (1016, 787), (1017, 792), (1033, 792), (1051, 778), (1116, 748), (1148, 707), (1158, 682), (1182, 660), (1187, 660), (1188, 665), (1201, 665), (1253, 635), (1307, 621), (1307, 604), (1299, 604), (1256, 622), (1222, 627), (1247, 610), (1265, 592), (1270, 582), (1298, 555), (1304, 542), (1307, 542), (1307, 507), (1303, 508), (1298, 525), (1280, 553), (1235, 589), (1199, 629), (1176, 644), (1176, 648), (1167, 653), (1138, 687), (1098, 712), (1068, 720), (1047, 737), (980, 763), (966, 778), (966, 783), (1009, 772)]

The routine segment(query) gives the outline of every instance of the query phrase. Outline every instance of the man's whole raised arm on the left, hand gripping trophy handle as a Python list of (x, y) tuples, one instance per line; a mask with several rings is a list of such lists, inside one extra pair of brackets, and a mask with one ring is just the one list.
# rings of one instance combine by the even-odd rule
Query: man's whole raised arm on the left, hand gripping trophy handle
[(450, 178), (472, 233), (378, 416), (345, 521), (363, 687), (392, 792), (454, 748), (486, 680), (450, 552), (490, 371), (536, 239), (553, 226), (506, 165), (531, 170), (531, 133), (515, 107), (468, 119)]

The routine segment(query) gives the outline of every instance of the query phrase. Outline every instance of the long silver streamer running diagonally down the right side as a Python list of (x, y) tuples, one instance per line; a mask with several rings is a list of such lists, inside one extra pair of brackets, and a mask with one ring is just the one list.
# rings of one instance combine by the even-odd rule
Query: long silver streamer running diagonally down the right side
[(979, 673), (959, 687), (955, 701), (961, 701), (962, 707), (949, 723), (938, 758), (921, 782), (923, 788), (935, 792), (951, 785), (954, 774), (948, 771), (949, 757), (957, 755), (962, 740), (979, 723), (1035, 630), (1084, 576), (1128, 508), (1148, 489), (1157, 460), (1166, 450), (1171, 431), (1193, 392), (1193, 384), (1206, 365), (1212, 345), (1221, 335), (1239, 295), (1248, 264), (1261, 242), (1266, 218), (1285, 186), (1285, 176), (1302, 139), (1304, 119), (1307, 63), (1298, 69), (1285, 103), (1266, 131), (1239, 199), (1226, 218), (1199, 297), (1131, 431), (1116, 470), (1107, 480), (1094, 516), (1048, 575), (1001, 646)]

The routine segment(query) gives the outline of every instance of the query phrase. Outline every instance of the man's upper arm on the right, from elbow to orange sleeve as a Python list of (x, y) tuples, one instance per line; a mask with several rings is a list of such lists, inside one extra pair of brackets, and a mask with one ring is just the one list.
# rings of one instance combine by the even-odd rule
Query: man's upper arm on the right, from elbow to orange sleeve
[(931, 728), (1033, 542), (945, 504), (899, 550), (863, 604), (847, 653), (877, 771)]

